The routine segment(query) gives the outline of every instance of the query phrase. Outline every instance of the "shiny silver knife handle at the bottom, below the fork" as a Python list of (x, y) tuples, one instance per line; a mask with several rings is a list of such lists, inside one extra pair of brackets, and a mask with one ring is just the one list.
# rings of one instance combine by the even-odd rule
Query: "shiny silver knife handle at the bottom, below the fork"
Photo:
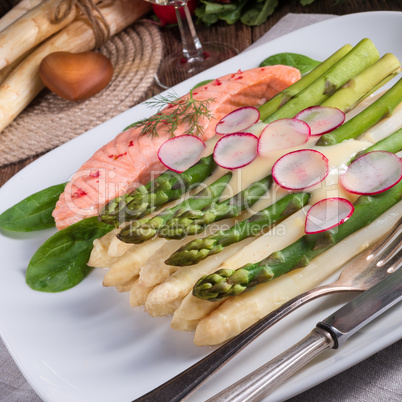
[(249, 402), (261, 398), (333, 345), (334, 340), (327, 331), (314, 328), (290, 349), (208, 399), (207, 402)]

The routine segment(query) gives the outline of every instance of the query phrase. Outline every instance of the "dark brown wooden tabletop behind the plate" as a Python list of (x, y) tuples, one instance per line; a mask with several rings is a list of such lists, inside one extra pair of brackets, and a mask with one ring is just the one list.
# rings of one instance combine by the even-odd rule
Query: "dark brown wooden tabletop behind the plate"
[[(239, 51), (246, 49), (264, 33), (266, 33), (273, 25), (275, 25), (283, 16), (288, 13), (322, 13), (344, 15), (363, 11), (402, 11), (401, 0), (316, 0), (309, 6), (301, 6), (299, 0), (281, 0), (274, 14), (269, 17), (268, 21), (259, 27), (247, 27), (241, 23), (227, 25), (218, 23), (212, 27), (197, 26), (198, 35), (202, 42), (213, 41), (220, 38), (221, 42), (236, 47)], [(180, 51), (181, 42), (178, 29), (163, 28), (163, 39), (165, 45), (165, 54)], [(161, 89), (152, 86), (144, 99), (160, 92)], [(40, 155), (39, 155), (40, 156)], [(19, 170), (33, 162), (37, 157), (29, 158), (19, 163), (13, 163), (0, 168), (0, 186), (15, 175)]]

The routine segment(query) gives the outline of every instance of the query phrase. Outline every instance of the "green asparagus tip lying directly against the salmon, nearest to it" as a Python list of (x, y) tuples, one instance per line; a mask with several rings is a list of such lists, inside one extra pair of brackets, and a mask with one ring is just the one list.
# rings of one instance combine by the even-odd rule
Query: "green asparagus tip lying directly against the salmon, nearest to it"
[(141, 218), (169, 201), (179, 199), (190, 187), (202, 183), (215, 169), (212, 155), (201, 158), (183, 173), (167, 171), (145, 186), (115, 198), (102, 209), (99, 220), (109, 224)]

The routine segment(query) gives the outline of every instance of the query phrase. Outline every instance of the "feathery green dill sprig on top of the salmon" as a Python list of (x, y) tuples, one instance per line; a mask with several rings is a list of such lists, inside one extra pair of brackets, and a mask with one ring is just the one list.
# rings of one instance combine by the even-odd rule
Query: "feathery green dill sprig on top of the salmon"
[(186, 124), (187, 129), (183, 134), (190, 134), (200, 137), (204, 128), (199, 124), (200, 118), (212, 118), (209, 105), (215, 99), (197, 100), (193, 98), (193, 91), (190, 91), (188, 99), (180, 98), (176, 93), (158, 95), (149, 99), (145, 104), (150, 108), (158, 108), (158, 112), (146, 119), (130, 124), (130, 127), (140, 127), (140, 135), (158, 136), (158, 132), (164, 131), (175, 136), (175, 131), (180, 124)]

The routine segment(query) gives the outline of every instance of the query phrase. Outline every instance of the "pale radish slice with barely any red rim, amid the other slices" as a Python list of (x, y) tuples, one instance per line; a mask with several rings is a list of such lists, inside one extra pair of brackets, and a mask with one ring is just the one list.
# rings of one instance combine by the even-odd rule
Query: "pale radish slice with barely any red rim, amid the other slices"
[(258, 141), (258, 154), (304, 144), (310, 137), (310, 127), (298, 119), (280, 119), (268, 124)]

